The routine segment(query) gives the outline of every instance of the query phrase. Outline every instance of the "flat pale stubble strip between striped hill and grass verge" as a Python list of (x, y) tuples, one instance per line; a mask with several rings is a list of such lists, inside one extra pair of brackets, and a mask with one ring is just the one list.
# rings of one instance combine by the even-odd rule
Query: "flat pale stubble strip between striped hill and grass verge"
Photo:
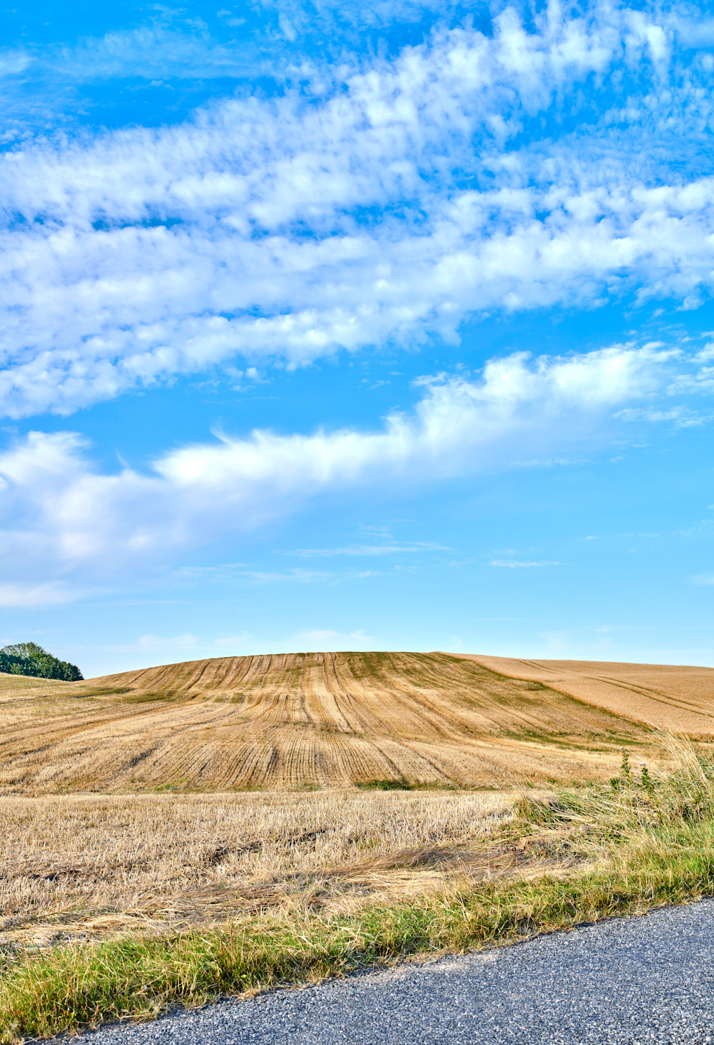
[[(164, 932), (268, 907), (347, 910), (482, 877), (497, 794), (0, 799), (0, 945)], [(501, 855), (502, 856), (502, 855)]]

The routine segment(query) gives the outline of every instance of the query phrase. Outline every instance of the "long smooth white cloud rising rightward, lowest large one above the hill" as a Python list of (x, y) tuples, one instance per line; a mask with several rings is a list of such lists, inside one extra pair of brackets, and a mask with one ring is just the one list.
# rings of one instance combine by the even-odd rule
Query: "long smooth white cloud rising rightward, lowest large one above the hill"
[[(260, 526), (318, 494), (368, 486), (395, 492), (514, 466), (526, 446), (547, 451), (610, 439), (613, 409), (664, 393), (671, 364), (671, 352), (633, 346), (567, 358), (518, 353), (489, 363), (478, 380), (424, 379), (413, 415), (391, 415), (381, 431), (222, 436), (170, 450), (143, 473), (98, 471), (76, 434), (31, 433), (0, 455), (3, 577), (19, 585), (20, 601), (30, 598), (25, 584), (37, 591), (48, 578), (67, 587), (101, 584), (126, 571), (163, 570), (181, 550)], [(394, 551), (381, 542), (370, 554), (382, 548)]]

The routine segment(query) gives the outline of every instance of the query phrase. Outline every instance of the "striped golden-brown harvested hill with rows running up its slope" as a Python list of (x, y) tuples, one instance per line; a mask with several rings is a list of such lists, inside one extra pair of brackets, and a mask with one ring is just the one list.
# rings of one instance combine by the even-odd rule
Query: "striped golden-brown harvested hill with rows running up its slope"
[(601, 779), (622, 744), (651, 748), (618, 707), (446, 653), (222, 657), (82, 682), (1, 675), (0, 791)]

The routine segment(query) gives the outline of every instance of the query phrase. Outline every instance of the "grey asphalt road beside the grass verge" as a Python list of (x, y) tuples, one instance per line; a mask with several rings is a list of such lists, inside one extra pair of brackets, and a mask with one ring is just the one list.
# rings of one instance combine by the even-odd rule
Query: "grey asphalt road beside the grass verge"
[(224, 1001), (81, 1045), (714, 1042), (714, 902)]

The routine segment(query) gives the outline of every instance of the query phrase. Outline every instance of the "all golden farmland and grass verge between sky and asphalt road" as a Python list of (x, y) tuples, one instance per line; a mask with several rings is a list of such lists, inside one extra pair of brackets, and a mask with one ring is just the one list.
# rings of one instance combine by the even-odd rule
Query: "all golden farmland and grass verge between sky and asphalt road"
[(0, 1040), (711, 892), (713, 724), (696, 668), (0, 676)]

